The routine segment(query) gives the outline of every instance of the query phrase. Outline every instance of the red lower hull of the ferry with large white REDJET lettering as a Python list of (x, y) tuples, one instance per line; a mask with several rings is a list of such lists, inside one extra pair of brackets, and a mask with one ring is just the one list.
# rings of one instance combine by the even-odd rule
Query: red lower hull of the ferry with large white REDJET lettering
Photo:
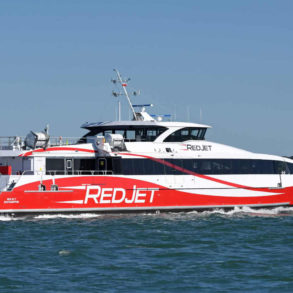
[[(293, 204), (293, 187), (247, 190), (271, 193), (265, 196), (219, 196), (189, 193), (188, 189), (168, 189), (150, 182), (112, 176), (56, 179), (58, 191), (50, 191), (52, 180), (16, 187), (0, 194), (0, 212), (115, 212), (144, 210), (194, 210), (235, 206), (267, 207)], [(231, 188), (235, 190), (237, 188)]]

